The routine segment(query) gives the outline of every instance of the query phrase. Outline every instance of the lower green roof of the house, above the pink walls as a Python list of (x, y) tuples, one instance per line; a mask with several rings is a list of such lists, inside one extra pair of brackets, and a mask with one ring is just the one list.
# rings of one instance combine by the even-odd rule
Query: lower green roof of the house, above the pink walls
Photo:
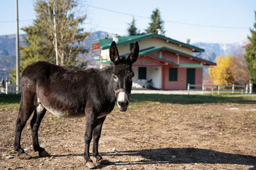
[(211, 63), (211, 64), (213, 64), (213, 65), (216, 65), (215, 62), (211, 62), (211, 61), (209, 61), (209, 60), (201, 59), (201, 58), (195, 57), (195, 56), (193, 56), (193, 55), (189, 55), (188, 53), (184, 53), (184, 52), (180, 52), (180, 51), (177, 51), (177, 50), (173, 50), (172, 48), (168, 48), (168, 47), (166, 47), (166, 46), (159, 46), (159, 47), (147, 48), (147, 49), (145, 49), (145, 50), (141, 50), (140, 53), (139, 53), (139, 55), (145, 55), (145, 54), (148, 54), (148, 53), (150, 53), (150, 52), (154, 52), (154, 51), (162, 50), (162, 49), (170, 50), (170, 51), (175, 52), (175, 53), (180, 53), (180, 54), (182, 54), (182, 55), (186, 55), (186, 56), (188, 56), (188, 57), (191, 57), (191, 58), (194, 58), (194, 59), (198, 59), (198, 60), (203, 60), (203, 61), (205, 61), (205, 62), (209, 62), (209, 63)]

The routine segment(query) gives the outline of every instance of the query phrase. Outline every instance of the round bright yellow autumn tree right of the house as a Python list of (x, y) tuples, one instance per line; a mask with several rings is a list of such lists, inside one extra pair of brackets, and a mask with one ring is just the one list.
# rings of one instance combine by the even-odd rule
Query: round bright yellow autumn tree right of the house
[(231, 55), (219, 56), (216, 63), (217, 66), (209, 68), (209, 76), (215, 85), (245, 85), (250, 80), (243, 59)]

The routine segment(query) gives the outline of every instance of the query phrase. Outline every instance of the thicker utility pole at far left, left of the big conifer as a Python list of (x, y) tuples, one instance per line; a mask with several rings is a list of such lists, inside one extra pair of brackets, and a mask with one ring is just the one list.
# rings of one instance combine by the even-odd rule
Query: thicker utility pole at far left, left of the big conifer
[(20, 45), (19, 45), (19, 12), (18, 0), (16, 0), (16, 93), (19, 93), (20, 85)]

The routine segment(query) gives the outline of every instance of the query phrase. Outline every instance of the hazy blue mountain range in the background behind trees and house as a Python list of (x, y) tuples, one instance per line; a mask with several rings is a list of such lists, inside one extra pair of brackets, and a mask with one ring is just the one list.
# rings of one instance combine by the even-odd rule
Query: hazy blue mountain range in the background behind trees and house
[[(111, 38), (112, 35), (113, 34), (109, 32), (96, 31), (92, 32), (90, 36), (84, 41), (84, 46), (87, 49), (90, 49), (88, 55), (86, 55), (86, 60), (88, 60), (89, 66), (97, 65), (97, 63), (93, 60), (93, 57), (99, 55), (99, 51), (92, 52), (93, 41), (96, 39), (106, 38), (106, 36)], [(20, 35), (21, 45), (24, 45), (22, 41), (23, 38), (24, 35)], [(244, 55), (245, 50), (243, 46), (246, 45), (246, 42), (230, 44), (199, 42), (193, 43), (192, 45), (205, 49), (205, 52), (201, 53), (200, 55), (195, 53), (197, 57), (216, 62), (216, 58), (220, 55)], [(0, 80), (1, 78), (8, 76), (10, 69), (15, 67), (15, 53), (15, 34), (0, 36)]]

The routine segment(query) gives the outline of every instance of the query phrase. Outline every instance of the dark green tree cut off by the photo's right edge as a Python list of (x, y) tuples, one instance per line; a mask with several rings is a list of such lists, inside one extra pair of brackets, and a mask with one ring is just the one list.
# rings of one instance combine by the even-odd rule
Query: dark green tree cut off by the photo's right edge
[(253, 90), (256, 90), (256, 11), (255, 13), (255, 23), (253, 24), (253, 29), (250, 29), (252, 36), (248, 36), (250, 44), (246, 45), (246, 54), (244, 59), (247, 62), (247, 67), (250, 72), (251, 80), (253, 83)]

